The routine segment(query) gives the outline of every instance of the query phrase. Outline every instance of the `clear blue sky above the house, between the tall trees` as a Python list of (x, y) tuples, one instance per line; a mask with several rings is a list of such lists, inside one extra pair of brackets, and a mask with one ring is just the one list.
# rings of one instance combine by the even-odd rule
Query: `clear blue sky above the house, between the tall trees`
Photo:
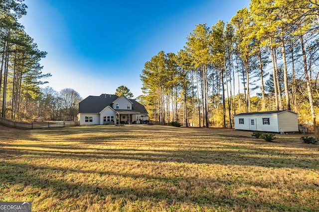
[(85, 98), (127, 86), (142, 93), (145, 62), (161, 50), (177, 53), (196, 24), (227, 22), (250, 0), (24, 0), (19, 21), (38, 49), (44, 79), (56, 91)]

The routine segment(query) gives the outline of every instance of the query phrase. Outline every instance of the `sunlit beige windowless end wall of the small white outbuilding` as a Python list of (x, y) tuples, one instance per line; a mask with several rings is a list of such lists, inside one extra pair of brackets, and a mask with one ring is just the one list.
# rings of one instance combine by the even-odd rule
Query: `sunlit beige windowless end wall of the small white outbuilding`
[(279, 132), (298, 132), (298, 116), (295, 113), (283, 112), (278, 114)]

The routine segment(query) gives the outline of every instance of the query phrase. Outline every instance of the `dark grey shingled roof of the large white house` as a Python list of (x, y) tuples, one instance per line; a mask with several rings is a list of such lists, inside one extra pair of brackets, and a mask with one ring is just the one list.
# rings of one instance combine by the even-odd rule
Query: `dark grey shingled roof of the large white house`
[[(118, 98), (119, 96), (113, 94), (88, 96), (79, 103), (79, 113), (100, 113), (107, 106), (113, 108), (112, 103)], [(131, 112), (148, 113), (145, 107), (139, 102), (135, 101), (134, 99), (128, 100), (132, 102), (132, 110), (130, 110)]]

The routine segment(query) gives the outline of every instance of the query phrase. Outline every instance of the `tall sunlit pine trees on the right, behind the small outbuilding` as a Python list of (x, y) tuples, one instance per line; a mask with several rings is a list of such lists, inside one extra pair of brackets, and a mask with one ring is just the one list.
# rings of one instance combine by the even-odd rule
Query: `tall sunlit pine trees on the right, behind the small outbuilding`
[(318, 33), (318, 0), (251, 0), (146, 62), (139, 99), (153, 119), (184, 126), (232, 128), (235, 114), (286, 109), (315, 125)]

